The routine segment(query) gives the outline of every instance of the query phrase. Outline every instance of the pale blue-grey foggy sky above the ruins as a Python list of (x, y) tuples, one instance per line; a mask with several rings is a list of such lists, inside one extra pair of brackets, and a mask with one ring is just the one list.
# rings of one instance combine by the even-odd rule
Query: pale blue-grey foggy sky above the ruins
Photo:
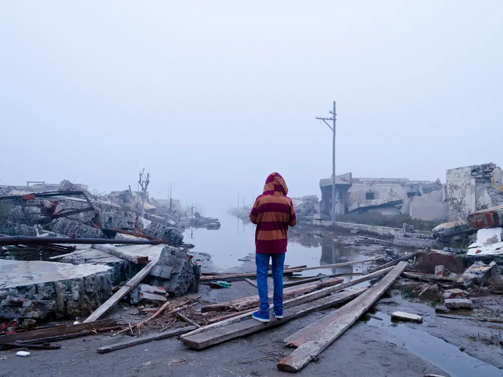
[(500, 0), (242, 4), (2, 2), (0, 184), (135, 190), (145, 167), (213, 209), (278, 171), (320, 196), (334, 100), (338, 174), (503, 164)]

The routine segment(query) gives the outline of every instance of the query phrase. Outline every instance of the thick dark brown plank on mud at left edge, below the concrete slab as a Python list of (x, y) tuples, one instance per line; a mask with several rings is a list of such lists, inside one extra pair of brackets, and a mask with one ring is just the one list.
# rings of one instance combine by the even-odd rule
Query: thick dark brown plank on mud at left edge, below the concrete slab
[(9, 334), (0, 336), (0, 341), (3, 343), (15, 343), (24, 341), (36, 341), (49, 337), (59, 337), (69, 334), (76, 334), (86, 330), (96, 330), (100, 328), (109, 328), (117, 326), (116, 319), (103, 319), (90, 323), (79, 323), (76, 325), (54, 326), (40, 330), (25, 331), (17, 334)]

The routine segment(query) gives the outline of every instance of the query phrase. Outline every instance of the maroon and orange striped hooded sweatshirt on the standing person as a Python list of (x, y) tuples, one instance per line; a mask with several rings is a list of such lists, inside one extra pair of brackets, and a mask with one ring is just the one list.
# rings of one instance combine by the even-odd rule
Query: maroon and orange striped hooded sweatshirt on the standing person
[(288, 226), (297, 224), (293, 203), (285, 180), (278, 173), (269, 174), (260, 195), (250, 212), (250, 220), (257, 224), (255, 247), (258, 253), (286, 252)]

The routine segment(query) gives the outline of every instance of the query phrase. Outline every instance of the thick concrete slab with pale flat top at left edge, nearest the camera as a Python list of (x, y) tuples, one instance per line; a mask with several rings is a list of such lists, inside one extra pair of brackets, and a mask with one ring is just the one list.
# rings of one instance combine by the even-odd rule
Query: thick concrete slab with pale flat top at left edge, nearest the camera
[(0, 318), (70, 318), (89, 314), (112, 294), (103, 265), (0, 259)]

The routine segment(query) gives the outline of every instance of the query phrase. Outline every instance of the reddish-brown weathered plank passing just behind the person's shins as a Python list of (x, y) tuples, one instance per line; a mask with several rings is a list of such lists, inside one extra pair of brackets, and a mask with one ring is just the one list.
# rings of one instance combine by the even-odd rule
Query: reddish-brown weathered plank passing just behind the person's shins
[[(283, 299), (290, 299), (294, 296), (304, 295), (306, 293), (316, 291), (322, 288), (331, 287), (342, 282), (341, 278), (327, 279), (310, 284), (304, 284), (297, 287), (287, 288), (283, 290)], [(223, 312), (226, 310), (235, 310), (239, 312), (245, 309), (251, 309), (258, 306), (260, 303), (259, 295), (248, 296), (241, 299), (226, 301), (218, 304), (205, 305), (201, 307), (201, 313), (207, 312)]]

